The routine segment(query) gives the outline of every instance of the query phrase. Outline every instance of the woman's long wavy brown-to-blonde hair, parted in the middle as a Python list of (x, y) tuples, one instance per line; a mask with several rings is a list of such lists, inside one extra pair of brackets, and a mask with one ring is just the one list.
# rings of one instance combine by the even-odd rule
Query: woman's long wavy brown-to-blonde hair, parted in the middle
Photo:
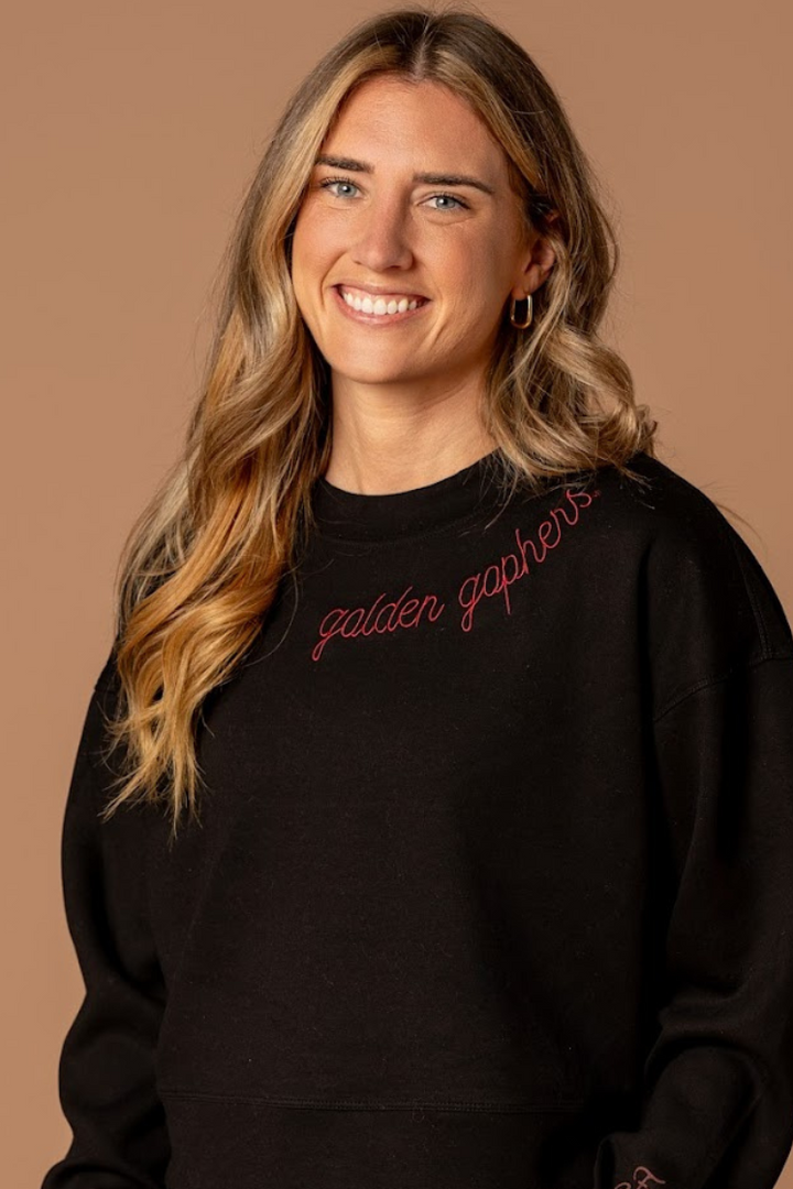
[[(473, 8), (473, 6), (471, 6)], [(442, 83), (503, 146), (527, 225), (555, 263), (531, 331), (503, 319), (483, 392), (505, 491), (654, 454), (657, 423), (598, 338), (618, 246), (597, 181), (533, 58), (478, 11), (423, 6), (357, 25), (298, 86), (241, 202), (183, 453), (133, 524), (115, 580), (118, 697), (105, 806), (165, 804), (171, 841), (197, 813), (195, 731), (207, 694), (245, 656), (313, 524), (331, 457), (329, 369), (297, 308), (291, 234), (314, 161), (344, 100), (389, 74)]]

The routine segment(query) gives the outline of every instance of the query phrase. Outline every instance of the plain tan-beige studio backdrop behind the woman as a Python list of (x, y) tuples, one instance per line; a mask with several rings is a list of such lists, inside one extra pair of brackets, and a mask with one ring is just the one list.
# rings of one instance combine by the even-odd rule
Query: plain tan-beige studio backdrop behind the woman
[[(4, 19), (7, 1185), (37, 1189), (69, 1140), (57, 1059), (82, 983), (59, 836), (119, 549), (182, 439), (209, 282), (273, 121), (385, 7), (76, 0)], [(608, 338), (660, 457), (751, 522), (736, 527), (791, 616), (789, 6), (482, 8), (546, 71), (608, 187), (624, 251)]]

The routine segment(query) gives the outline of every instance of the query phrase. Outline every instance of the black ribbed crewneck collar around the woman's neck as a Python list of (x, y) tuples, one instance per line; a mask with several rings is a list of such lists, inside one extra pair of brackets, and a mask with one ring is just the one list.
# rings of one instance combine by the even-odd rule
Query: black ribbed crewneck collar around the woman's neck
[(345, 491), (320, 476), (313, 489), (319, 533), (340, 541), (394, 541), (473, 518), (498, 504), (495, 449), (445, 479), (389, 495)]

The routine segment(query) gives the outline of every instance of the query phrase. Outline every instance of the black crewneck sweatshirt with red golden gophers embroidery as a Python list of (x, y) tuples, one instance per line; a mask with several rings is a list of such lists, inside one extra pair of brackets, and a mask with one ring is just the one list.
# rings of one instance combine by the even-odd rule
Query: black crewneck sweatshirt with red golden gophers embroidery
[[(86, 996), (43, 1189), (772, 1189), (793, 1145), (793, 636), (644, 453), (317, 480), (203, 707), (201, 823), (63, 824)], [(111, 761), (112, 765), (113, 761)]]

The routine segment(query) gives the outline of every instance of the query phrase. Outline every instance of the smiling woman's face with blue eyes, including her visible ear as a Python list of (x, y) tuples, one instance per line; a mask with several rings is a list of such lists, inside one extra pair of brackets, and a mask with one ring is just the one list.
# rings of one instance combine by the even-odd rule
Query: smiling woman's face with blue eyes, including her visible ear
[[(510, 295), (553, 263), (525, 237), (504, 153), (464, 101), (434, 82), (363, 83), (321, 146), (292, 243), (295, 296), (334, 392), (478, 380)], [(382, 315), (342, 294), (420, 304)]]

